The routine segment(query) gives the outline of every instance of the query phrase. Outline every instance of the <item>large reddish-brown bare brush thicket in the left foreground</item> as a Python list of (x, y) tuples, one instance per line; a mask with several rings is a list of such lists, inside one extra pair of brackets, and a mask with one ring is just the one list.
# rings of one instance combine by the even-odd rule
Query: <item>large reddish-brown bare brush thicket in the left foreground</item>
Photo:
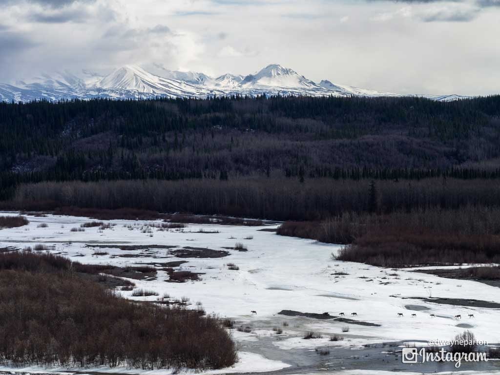
[(219, 319), (132, 303), (72, 268), (55, 255), (0, 255), (1, 362), (143, 369), (235, 362), (234, 343)]

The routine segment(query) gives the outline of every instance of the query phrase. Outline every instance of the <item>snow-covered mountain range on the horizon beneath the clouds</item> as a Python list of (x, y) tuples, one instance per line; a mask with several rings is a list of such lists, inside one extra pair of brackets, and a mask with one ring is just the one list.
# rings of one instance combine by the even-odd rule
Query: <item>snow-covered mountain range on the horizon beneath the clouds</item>
[[(221, 95), (311, 95), (311, 96), (403, 96), (393, 92), (362, 89), (321, 80), (316, 83), (293, 69), (270, 64), (254, 74), (222, 74), (218, 77), (199, 72), (162, 70), (153, 74), (136, 65), (125, 65), (110, 74), (83, 70), (75, 75), (67, 70), (42, 74), (30, 80), (0, 83), (0, 101), (60, 100), (95, 97), (139, 99)], [(455, 100), (467, 96), (417, 95), (435, 100)]]

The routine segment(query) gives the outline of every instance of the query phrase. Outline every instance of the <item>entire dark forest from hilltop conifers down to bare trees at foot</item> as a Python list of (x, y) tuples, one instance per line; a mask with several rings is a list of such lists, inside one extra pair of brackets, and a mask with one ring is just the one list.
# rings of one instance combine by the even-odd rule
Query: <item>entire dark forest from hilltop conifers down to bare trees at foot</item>
[(498, 202), (500, 96), (0, 103), (0, 131), (4, 208), (319, 220)]

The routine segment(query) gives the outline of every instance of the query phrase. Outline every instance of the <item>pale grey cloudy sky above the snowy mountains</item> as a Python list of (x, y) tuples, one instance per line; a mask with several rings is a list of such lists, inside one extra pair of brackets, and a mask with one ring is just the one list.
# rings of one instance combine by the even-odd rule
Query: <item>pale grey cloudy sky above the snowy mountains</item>
[(500, 92), (500, 0), (0, 0), (0, 81), (124, 64)]

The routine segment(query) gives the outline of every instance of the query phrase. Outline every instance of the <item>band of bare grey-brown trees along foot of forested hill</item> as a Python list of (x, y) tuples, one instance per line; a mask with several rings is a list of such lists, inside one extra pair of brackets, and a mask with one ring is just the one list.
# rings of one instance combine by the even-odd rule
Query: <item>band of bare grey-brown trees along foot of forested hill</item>
[(500, 206), (500, 180), (426, 178), (411, 181), (127, 180), (23, 184), (4, 209), (63, 206), (224, 214), (280, 220), (320, 220), (344, 212), (387, 214), (418, 209)]

